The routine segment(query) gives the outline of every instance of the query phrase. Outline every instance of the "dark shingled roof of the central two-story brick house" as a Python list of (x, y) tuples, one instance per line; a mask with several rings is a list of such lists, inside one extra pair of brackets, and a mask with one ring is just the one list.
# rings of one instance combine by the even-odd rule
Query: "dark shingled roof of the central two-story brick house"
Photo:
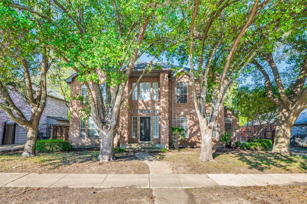
[[(133, 68), (132, 68), (132, 72), (130, 77), (134, 76), (134, 73), (138, 73), (140, 71), (143, 71), (145, 69), (145, 67), (148, 65), (149, 62), (141, 62), (141, 63), (135, 63)], [(185, 71), (185, 73), (187, 73), (188, 71), (190, 71), (190, 68), (188, 67), (182, 67), (179, 65), (174, 65), (174, 64), (168, 64), (168, 63), (163, 63), (163, 62), (153, 62), (152, 63), (152, 77), (155, 77), (154, 73), (157, 73), (157, 71), (163, 70), (163, 71), (169, 71), (171, 75), (174, 75), (178, 72), (181, 71)], [(161, 66), (161, 67), (160, 67)], [(72, 80), (77, 76), (78, 74), (75, 73), (73, 75), (71, 75), (69, 78), (67, 78), (65, 80), (66, 83), (70, 84), (72, 82)], [(148, 77), (150, 75), (150, 73), (146, 73), (144, 75), (144, 77)]]

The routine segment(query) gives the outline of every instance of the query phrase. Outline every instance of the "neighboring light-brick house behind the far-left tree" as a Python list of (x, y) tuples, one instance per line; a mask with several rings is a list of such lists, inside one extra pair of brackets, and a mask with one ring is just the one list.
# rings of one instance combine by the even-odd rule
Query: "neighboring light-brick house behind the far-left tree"
[[(65, 105), (64, 97), (50, 89), (47, 90), (47, 94), (47, 102), (45, 109), (41, 115), (40, 123), (69, 125), (69, 120), (67, 119), (68, 107)], [(11, 97), (14, 100), (15, 105), (17, 107), (20, 107), (20, 110), (25, 114), (27, 118), (29, 118), (31, 114), (31, 107), (29, 106), (29, 104), (27, 104), (27, 102), (25, 102), (21, 98), (20, 94), (11, 93)], [(14, 123), (14, 121), (12, 121), (10, 117), (1, 109), (0, 119), (0, 144), (2, 144), (5, 122)], [(25, 137), (25, 132), (22, 131), (22, 133), (23, 134), (20, 137)], [(15, 139), (15, 141), (17, 141), (17, 138)]]

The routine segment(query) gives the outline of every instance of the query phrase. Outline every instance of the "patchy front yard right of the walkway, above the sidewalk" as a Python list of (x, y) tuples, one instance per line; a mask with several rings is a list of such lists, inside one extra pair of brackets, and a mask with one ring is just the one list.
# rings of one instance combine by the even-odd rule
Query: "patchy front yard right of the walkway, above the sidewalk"
[(243, 151), (240, 149), (214, 149), (216, 162), (201, 162), (200, 148), (153, 153), (166, 161), (176, 174), (220, 173), (307, 173), (306, 156), (281, 156), (271, 152)]

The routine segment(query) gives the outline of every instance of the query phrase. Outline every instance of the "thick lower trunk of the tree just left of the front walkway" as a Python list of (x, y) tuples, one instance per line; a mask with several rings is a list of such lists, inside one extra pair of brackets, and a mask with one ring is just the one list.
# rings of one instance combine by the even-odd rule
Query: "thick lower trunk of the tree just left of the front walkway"
[(113, 161), (115, 160), (114, 154), (114, 136), (116, 130), (116, 123), (115, 125), (108, 125), (108, 129), (103, 127), (102, 131), (100, 132), (100, 153), (98, 156), (98, 160), (101, 162)]

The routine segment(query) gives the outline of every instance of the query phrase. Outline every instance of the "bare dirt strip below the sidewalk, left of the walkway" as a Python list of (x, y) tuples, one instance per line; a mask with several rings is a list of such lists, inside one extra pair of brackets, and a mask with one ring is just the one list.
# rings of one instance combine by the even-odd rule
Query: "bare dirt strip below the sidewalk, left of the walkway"
[(122, 188), (18, 188), (1, 187), (0, 203), (149, 203), (151, 189)]

